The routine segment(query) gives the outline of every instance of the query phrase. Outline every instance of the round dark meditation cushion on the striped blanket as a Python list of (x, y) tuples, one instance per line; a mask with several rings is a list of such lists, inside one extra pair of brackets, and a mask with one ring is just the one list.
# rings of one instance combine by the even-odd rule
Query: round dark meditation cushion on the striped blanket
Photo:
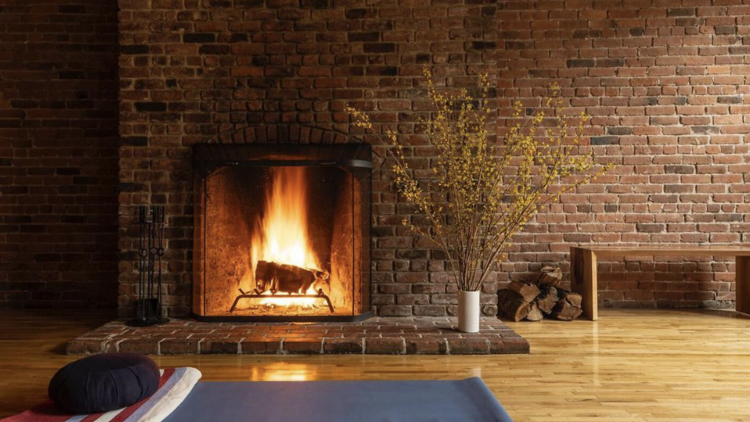
[(68, 412), (109, 412), (154, 394), (159, 378), (159, 367), (147, 356), (108, 353), (65, 365), (52, 377), (48, 392)]

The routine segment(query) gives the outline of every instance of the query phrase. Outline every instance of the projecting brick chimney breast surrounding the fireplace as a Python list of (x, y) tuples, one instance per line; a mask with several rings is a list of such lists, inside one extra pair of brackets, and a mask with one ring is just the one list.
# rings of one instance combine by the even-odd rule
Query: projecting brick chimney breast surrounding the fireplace
[[(120, 310), (132, 312), (134, 205), (165, 204), (166, 303), (190, 311), (190, 147), (279, 127), (349, 132), (347, 104), (413, 132), (424, 113), (425, 65), (439, 83), (475, 83), (495, 69), (495, 0), (120, 0)], [(253, 133), (260, 133), (253, 131)], [(297, 133), (297, 129), (285, 133)], [(418, 139), (415, 139), (415, 143)], [(429, 149), (415, 148), (426, 164)], [(419, 155), (422, 154), (422, 155)], [(389, 178), (374, 183), (374, 303), (382, 315), (445, 315), (455, 305), (441, 256), (400, 226)], [(434, 270), (428, 273), (427, 268)], [(485, 311), (496, 297), (487, 286)]]

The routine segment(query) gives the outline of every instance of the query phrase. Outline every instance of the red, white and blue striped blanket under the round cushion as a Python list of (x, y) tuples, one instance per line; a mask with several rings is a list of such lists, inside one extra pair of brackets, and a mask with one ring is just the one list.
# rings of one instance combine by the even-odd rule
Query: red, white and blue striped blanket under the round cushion
[(61, 412), (51, 401), (47, 401), (0, 422), (159, 422), (185, 400), (200, 378), (201, 373), (195, 368), (165, 369), (161, 371), (156, 392), (129, 407), (107, 413), (70, 415)]

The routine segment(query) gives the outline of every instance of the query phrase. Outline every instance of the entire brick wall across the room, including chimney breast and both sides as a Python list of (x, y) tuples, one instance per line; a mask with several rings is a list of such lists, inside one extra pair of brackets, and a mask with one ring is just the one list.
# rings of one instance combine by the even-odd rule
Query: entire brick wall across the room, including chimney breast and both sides
[[(497, 69), (501, 125), (511, 99), (534, 105), (558, 82), (594, 116), (594, 148), (618, 164), (517, 239), (487, 286), (487, 313), (495, 280), (566, 266), (570, 243), (747, 240), (750, 6), (740, 0), (120, 0), (117, 226), (114, 3), (0, 0), (0, 306), (109, 303), (119, 227), (129, 314), (131, 216), (153, 202), (171, 214), (167, 300), (184, 315), (190, 146), (248, 126), (347, 131), (346, 103), (408, 133), (424, 112), (425, 64), (456, 87)], [(413, 141), (427, 165), (429, 149)], [(409, 207), (386, 176), (375, 190), (379, 312), (452, 312), (440, 254), (400, 227)], [(709, 259), (606, 261), (600, 297), (724, 306), (732, 271)]]

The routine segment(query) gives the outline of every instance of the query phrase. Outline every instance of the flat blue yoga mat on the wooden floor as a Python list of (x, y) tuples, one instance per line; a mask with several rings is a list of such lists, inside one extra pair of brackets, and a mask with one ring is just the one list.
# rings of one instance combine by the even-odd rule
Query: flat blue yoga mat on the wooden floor
[(513, 422), (480, 378), (200, 382), (165, 422)]

